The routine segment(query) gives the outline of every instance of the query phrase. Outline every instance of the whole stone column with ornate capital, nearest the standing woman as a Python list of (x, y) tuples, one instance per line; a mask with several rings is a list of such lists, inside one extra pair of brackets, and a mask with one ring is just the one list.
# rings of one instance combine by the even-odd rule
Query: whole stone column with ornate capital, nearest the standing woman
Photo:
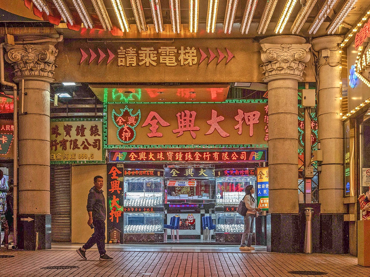
[[(310, 44), (285, 35), (260, 41), (269, 98), (269, 215), (267, 250), (300, 251), (298, 213), (298, 81)], [(269, 226), (270, 225), (270, 226)], [(269, 228), (270, 227), (270, 228)]]

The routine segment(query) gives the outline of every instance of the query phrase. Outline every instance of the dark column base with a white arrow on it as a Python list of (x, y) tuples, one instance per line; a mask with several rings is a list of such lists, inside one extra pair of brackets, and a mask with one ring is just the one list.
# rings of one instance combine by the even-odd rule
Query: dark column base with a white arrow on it
[(51, 215), (30, 213), (18, 215), (18, 248), (35, 250), (36, 233), (38, 233), (37, 249), (51, 249)]

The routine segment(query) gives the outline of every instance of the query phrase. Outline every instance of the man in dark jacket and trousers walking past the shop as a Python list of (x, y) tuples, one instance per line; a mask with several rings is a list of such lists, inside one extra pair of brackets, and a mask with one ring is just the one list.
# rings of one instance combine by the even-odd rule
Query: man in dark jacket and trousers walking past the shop
[(90, 189), (89, 195), (87, 197), (87, 213), (89, 219), (87, 220), (87, 225), (94, 228), (94, 233), (91, 235), (87, 243), (83, 247), (77, 249), (77, 253), (85, 260), (86, 250), (90, 249), (95, 243), (98, 246), (101, 261), (113, 260), (110, 256), (105, 253), (105, 198), (103, 195), (102, 187), (104, 185), (103, 177), (94, 177), (94, 187)]

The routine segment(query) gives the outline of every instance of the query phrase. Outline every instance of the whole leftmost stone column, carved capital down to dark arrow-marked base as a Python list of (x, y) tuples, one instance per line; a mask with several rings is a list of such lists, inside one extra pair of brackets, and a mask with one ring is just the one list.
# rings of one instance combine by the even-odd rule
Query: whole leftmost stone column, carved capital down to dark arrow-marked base
[[(54, 81), (54, 45), (6, 45), (5, 59), (14, 82), (24, 80), (23, 114), (19, 116), (18, 246), (51, 248), (50, 83)], [(21, 96), (20, 96), (21, 99)]]

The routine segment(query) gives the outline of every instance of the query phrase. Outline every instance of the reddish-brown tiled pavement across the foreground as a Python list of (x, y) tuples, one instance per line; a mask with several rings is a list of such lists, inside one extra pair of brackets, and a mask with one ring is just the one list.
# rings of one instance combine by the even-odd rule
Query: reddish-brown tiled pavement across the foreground
[[(53, 246), (51, 250), (1, 251), (3, 276), (306, 276), (288, 271), (309, 270), (321, 276), (366, 276), (369, 268), (357, 265), (349, 255), (280, 254), (259, 249), (242, 252), (236, 246), (123, 246), (107, 247), (113, 261), (99, 261), (96, 249), (85, 261), (75, 252), (76, 245)], [(49, 266), (78, 266), (77, 269), (48, 270)]]

